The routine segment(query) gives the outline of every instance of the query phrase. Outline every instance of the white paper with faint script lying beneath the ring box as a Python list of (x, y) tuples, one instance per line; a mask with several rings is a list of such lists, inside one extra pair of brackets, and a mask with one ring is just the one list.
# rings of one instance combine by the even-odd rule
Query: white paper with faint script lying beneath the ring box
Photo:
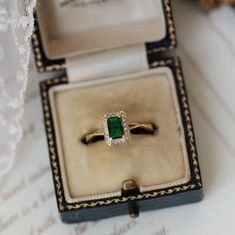
[(142, 213), (134, 221), (121, 216), (77, 225), (61, 223), (49, 171), (40, 76), (32, 72), (25, 138), (14, 168), (0, 185), (1, 235), (235, 233), (235, 11), (222, 7), (204, 15), (196, 4), (180, 0), (174, 1), (174, 15), (179, 42), (175, 54), (182, 59), (191, 103), (204, 200)]

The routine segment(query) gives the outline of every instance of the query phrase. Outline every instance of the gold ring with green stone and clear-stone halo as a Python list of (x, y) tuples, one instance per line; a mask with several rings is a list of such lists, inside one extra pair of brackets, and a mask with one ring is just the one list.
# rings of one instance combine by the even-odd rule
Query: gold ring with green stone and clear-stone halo
[(102, 126), (103, 128), (86, 134), (82, 141), (91, 144), (104, 139), (111, 146), (128, 142), (131, 134), (154, 135), (158, 132), (157, 126), (151, 122), (128, 124), (127, 115), (123, 111), (104, 115)]

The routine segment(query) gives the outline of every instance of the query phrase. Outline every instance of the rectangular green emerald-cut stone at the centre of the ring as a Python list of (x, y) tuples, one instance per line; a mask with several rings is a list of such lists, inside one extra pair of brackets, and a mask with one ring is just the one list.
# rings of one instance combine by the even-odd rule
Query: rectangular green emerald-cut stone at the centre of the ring
[(109, 136), (112, 139), (120, 139), (124, 135), (124, 128), (122, 125), (122, 118), (110, 117), (107, 120)]

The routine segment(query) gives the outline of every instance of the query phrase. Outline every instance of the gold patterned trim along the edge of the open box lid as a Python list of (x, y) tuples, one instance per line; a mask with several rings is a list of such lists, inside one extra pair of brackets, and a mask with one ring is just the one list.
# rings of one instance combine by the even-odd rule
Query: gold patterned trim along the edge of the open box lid
[[(170, 45), (167, 47), (159, 47), (156, 49), (148, 50), (147, 51), (148, 54), (163, 52), (166, 50), (172, 50), (176, 46), (175, 26), (174, 26), (174, 21), (173, 21), (172, 10), (171, 10), (171, 6), (170, 6), (170, 0), (162, 0), (162, 2), (165, 6), (164, 9), (166, 12), (165, 13), (166, 17), (167, 17), (167, 26), (168, 26), (169, 36), (170, 36)], [(33, 32), (33, 34), (32, 34), (32, 43), (34, 46), (36, 66), (37, 66), (38, 71), (40, 73), (66, 69), (65, 62), (63, 62), (61, 64), (52, 64), (52, 65), (48, 65), (48, 66), (43, 65), (41, 49), (39, 47), (40, 40), (38, 38), (38, 35), (35, 32)]]

